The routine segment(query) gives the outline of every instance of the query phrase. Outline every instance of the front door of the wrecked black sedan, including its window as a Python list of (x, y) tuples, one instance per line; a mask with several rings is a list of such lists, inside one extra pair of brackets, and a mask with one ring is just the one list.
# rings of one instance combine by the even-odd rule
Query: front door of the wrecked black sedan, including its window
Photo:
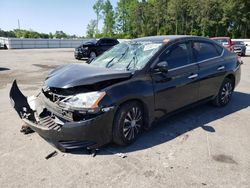
[(189, 105), (198, 98), (198, 66), (192, 62), (191, 42), (180, 42), (167, 48), (158, 62), (166, 61), (168, 72), (153, 72), (155, 117)]

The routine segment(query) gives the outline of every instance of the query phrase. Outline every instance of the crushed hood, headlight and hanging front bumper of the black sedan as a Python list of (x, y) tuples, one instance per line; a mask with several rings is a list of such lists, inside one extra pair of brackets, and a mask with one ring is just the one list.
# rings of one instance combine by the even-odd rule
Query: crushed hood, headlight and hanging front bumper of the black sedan
[[(87, 66), (68, 65), (52, 71), (35, 96), (25, 97), (16, 81), (10, 90), (11, 104), (20, 118), (61, 151), (95, 149), (112, 140), (115, 106), (102, 89), (130, 73), (102, 74), (100, 68)], [(98, 70), (99, 77), (91, 76)], [(72, 75), (74, 81), (69, 78)]]

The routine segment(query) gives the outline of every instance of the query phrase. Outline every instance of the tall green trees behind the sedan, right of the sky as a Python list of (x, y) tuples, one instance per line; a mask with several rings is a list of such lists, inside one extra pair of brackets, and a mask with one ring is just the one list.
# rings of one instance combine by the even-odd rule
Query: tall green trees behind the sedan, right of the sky
[[(250, 37), (249, 0), (96, 0), (87, 37), (150, 35)], [(99, 22), (103, 19), (103, 28)]]

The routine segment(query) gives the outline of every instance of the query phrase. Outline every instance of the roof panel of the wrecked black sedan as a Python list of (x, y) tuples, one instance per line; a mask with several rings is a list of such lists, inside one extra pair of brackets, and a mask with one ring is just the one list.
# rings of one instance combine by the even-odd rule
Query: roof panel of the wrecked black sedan
[(193, 35), (160, 35), (160, 36), (149, 36), (133, 39), (132, 41), (150, 41), (150, 42), (168, 42), (170, 40), (181, 39), (181, 38), (204, 38)]

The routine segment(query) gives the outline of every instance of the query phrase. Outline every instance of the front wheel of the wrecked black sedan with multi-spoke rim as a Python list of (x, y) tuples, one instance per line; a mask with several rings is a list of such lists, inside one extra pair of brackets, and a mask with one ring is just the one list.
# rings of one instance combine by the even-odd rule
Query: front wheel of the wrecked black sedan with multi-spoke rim
[(120, 106), (114, 117), (113, 142), (117, 145), (133, 143), (143, 130), (144, 113), (138, 102)]

